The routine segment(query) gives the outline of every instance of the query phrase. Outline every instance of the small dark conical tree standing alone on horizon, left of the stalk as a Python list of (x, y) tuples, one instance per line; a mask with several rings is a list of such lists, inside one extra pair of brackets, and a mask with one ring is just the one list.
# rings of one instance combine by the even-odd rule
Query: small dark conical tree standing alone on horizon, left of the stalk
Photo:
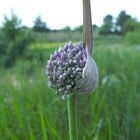
[(46, 32), (46, 31), (48, 31), (47, 23), (42, 21), (42, 18), (41, 18), (40, 15), (34, 21), (33, 30), (37, 31), (37, 32)]

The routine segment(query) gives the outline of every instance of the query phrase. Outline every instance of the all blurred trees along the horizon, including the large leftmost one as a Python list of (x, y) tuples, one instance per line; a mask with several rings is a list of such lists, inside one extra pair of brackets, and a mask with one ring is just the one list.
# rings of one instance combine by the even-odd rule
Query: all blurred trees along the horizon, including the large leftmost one
[[(100, 35), (122, 35), (126, 37), (129, 44), (140, 44), (140, 23), (125, 11), (121, 11), (115, 20), (112, 15), (106, 15), (102, 26), (93, 25), (93, 30)], [(13, 12), (10, 18), (5, 16), (3, 25), (0, 27), (0, 65), (11, 67), (17, 58), (25, 55), (27, 46), (35, 40), (35, 33), (51, 31), (56, 30), (48, 28), (41, 16), (37, 16), (32, 28), (23, 26), (21, 20)], [(66, 26), (59, 31), (66, 33), (69, 31), (82, 32), (82, 25), (73, 30)]]

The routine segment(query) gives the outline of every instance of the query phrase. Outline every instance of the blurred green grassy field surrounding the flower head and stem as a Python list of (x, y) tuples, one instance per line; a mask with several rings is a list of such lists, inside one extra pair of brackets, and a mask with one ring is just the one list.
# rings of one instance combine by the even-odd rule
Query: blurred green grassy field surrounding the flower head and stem
[[(63, 42), (36, 43), (33, 58), (0, 68), (0, 140), (68, 140), (66, 101), (47, 87), (47, 59)], [(97, 38), (100, 78), (91, 96), (78, 97), (79, 140), (140, 139), (140, 49), (122, 39)]]

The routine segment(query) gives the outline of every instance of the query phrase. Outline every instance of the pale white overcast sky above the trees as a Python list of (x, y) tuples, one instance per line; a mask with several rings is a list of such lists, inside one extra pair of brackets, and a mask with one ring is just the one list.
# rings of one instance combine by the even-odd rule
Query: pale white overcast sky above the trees
[[(92, 23), (101, 26), (103, 18), (111, 14), (114, 18), (125, 10), (140, 21), (139, 0), (90, 0)], [(11, 10), (22, 20), (22, 24), (32, 27), (37, 16), (51, 29), (66, 26), (74, 28), (82, 25), (82, 0), (1, 0), (0, 25), (3, 16), (10, 16)]]

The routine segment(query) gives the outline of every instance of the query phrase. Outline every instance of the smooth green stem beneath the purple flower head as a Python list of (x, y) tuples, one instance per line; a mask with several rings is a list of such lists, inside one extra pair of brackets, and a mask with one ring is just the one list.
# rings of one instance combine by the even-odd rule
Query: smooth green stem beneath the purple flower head
[(77, 128), (77, 96), (74, 94), (67, 99), (68, 105), (68, 120), (69, 120), (69, 135), (70, 140), (78, 140)]

